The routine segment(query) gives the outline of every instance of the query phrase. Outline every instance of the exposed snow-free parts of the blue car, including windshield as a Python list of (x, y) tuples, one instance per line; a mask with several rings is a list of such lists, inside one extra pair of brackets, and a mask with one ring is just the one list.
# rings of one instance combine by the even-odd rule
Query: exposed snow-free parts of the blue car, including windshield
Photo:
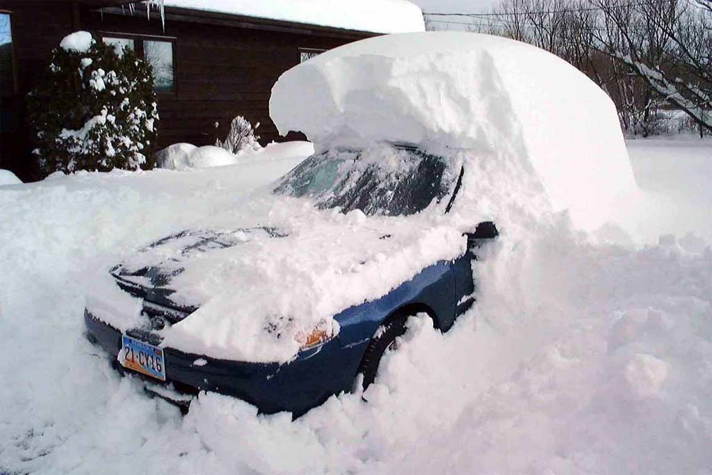
[[(366, 216), (410, 216), (426, 209), (449, 212), (467, 170), (449, 173), (444, 159), (416, 147), (392, 149), (402, 160), (412, 161), (414, 167), (407, 176), (376, 172), (373, 167), (378, 165), (370, 162), (344, 174), (344, 168), (337, 165), (365, 160), (362, 155), (367, 152), (326, 151), (298, 165), (272, 187), (272, 193), (308, 200), (318, 209), (334, 208), (344, 213), (359, 209)], [(341, 172), (335, 172), (337, 169)], [(241, 236), (265, 240), (288, 236), (278, 226), (266, 224), (239, 231)], [(172, 255), (161, 255), (179, 263), (212, 249), (239, 246), (240, 240), (231, 238), (234, 235), (210, 229), (187, 230), (145, 249), (171, 249)], [(496, 236), (498, 231), (491, 222), (473, 226), (473, 232), (462, 237), (468, 243), (463, 255), (433, 262), (379, 298), (333, 315), (339, 328), (337, 335), (320, 338), (320, 333), (315, 333), (288, 362), (229, 360), (166, 345), (162, 330), (198, 310), (172, 298), (177, 291), (172, 283), (182, 272), (181, 265), (172, 266), (170, 271), (162, 263), (140, 268), (120, 263), (112, 268), (116, 285), (140, 299), (143, 323), (120, 330), (88, 304), (86, 330), (89, 340), (110, 355), (118, 370), (143, 378), (150, 392), (182, 405), (184, 410), (190, 395), (211, 391), (238, 397), (263, 413), (288, 411), (296, 417), (331, 395), (352, 390), (359, 374), (363, 375), (363, 386), (370, 385), (377, 377), (382, 355), (406, 331), (409, 316), (425, 313), (436, 328), (449, 330), (457, 316), (474, 302), (471, 262), (476, 259), (476, 250)], [(389, 234), (378, 237), (389, 238)], [(167, 387), (170, 391), (165, 390)]]

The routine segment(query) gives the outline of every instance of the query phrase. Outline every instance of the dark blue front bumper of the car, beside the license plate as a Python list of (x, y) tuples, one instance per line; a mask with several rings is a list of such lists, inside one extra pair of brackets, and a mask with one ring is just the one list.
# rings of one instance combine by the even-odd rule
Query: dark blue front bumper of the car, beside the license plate
[[(84, 320), (89, 340), (100, 345), (115, 362), (121, 348), (121, 332), (88, 309), (84, 310)], [(300, 353), (292, 362), (278, 364), (219, 360), (164, 348), (163, 384), (173, 383), (178, 390), (189, 393), (219, 392), (249, 402), (259, 412), (288, 411), (296, 417), (330, 395), (351, 389), (363, 349), (361, 345), (342, 348), (338, 338), (333, 338), (316, 350)], [(206, 360), (206, 364), (194, 365), (198, 359)]]

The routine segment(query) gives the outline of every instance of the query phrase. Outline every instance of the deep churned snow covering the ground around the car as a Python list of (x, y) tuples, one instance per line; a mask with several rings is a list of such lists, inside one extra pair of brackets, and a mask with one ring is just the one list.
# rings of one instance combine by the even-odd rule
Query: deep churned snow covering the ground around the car
[(0, 188), (0, 473), (711, 473), (712, 143), (628, 145), (653, 201), (499, 241), (451, 332), (413, 319), (367, 404), (295, 422), (211, 394), (180, 417), (109, 369), (81, 315), (88, 269), (298, 158)]

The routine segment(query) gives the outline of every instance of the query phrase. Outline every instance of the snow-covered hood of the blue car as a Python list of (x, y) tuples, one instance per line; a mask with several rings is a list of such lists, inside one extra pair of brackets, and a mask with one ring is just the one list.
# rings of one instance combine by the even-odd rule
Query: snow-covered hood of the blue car
[[(341, 310), (461, 255), (466, 239), (449, 224), (445, 204), (413, 216), (366, 216), (263, 194), (243, 210), (249, 225), (228, 227), (236, 220), (221, 216), (132, 254), (106, 274), (115, 289), (93, 291), (91, 309), (125, 330), (141, 322), (135, 296), (142, 293), (147, 301), (191, 312), (159, 330), (162, 345), (210, 357), (286, 362), (315, 328), (337, 332), (333, 316)], [(115, 278), (140, 292), (117, 293)]]

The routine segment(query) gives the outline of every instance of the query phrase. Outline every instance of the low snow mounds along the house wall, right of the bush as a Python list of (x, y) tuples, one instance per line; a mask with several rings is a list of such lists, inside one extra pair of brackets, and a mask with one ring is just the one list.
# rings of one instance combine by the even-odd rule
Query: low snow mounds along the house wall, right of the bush
[(187, 170), (236, 165), (249, 160), (275, 160), (275, 157), (308, 157), (314, 152), (310, 142), (271, 143), (264, 148), (241, 150), (231, 154), (221, 147), (176, 143), (156, 152), (158, 168)]

